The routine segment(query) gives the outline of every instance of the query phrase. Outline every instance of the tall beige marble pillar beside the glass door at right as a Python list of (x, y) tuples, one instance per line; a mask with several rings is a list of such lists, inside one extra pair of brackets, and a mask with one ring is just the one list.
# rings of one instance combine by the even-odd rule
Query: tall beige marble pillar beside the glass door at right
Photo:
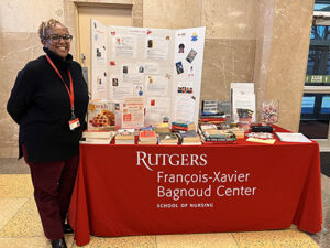
[(262, 0), (254, 82), (258, 106), (279, 99), (278, 125), (299, 128), (314, 1)]

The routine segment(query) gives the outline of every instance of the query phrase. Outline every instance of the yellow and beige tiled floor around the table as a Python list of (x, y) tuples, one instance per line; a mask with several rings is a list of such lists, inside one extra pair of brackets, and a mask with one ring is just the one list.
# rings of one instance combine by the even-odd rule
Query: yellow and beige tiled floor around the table
[[(11, 166), (10, 166), (11, 164)], [(14, 164), (14, 166), (13, 166)], [(33, 200), (26, 165), (0, 160), (0, 248), (51, 247), (44, 237)], [(292, 226), (285, 230), (221, 233), (196, 235), (136, 236), (121, 238), (91, 237), (84, 247), (105, 248), (330, 248), (330, 179), (322, 175), (324, 229), (307, 235)], [(74, 236), (66, 236), (70, 248)]]

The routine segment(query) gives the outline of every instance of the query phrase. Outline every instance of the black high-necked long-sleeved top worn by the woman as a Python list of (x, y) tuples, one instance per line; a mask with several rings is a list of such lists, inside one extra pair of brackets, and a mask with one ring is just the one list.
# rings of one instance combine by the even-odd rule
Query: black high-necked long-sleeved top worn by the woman
[(73, 61), (70, 54), (63, 61), (52, 51), (44, 48), (58, 68), (69, 88), (67, 69), (70, 69), (74, 93), (75, 115), (80, 128), (72, 131), (70, 101), (68, 93), (45, 55), (29, 62), (19, 72), (7, 110), (20, 125), (19, 147), (22, 158), (24, 143), (29, 162), (62, 161), (79, 153), (79, 140), (86, 129), (88, 89), (82, 77), (81, 66)]

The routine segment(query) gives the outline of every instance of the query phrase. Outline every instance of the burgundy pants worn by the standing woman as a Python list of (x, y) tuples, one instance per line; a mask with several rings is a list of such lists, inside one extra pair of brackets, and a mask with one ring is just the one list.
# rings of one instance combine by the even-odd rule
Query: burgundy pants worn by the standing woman
[(51, 239), (63, 237), (63, 223), (75, 185), (79, 157), (56, 162), (31, 163), (23, 144), (24, 160), (31, 170), (34, 198), (45, 236)]

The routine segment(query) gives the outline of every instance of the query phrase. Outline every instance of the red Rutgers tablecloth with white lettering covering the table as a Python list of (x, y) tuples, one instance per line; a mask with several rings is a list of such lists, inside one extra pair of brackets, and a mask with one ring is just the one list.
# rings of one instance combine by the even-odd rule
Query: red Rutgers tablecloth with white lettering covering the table
[(80, 144), (69, 222), (89, 235), (321, 230), (318, 143)]

